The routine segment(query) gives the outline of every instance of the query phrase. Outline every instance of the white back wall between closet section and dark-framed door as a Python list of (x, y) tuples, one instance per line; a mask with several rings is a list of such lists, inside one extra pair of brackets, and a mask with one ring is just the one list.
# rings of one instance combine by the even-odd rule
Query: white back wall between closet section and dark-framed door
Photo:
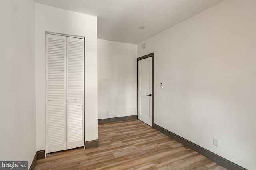
[(98, 119), (137, 115), (136, 64), (137, 45), (98, 39)]

